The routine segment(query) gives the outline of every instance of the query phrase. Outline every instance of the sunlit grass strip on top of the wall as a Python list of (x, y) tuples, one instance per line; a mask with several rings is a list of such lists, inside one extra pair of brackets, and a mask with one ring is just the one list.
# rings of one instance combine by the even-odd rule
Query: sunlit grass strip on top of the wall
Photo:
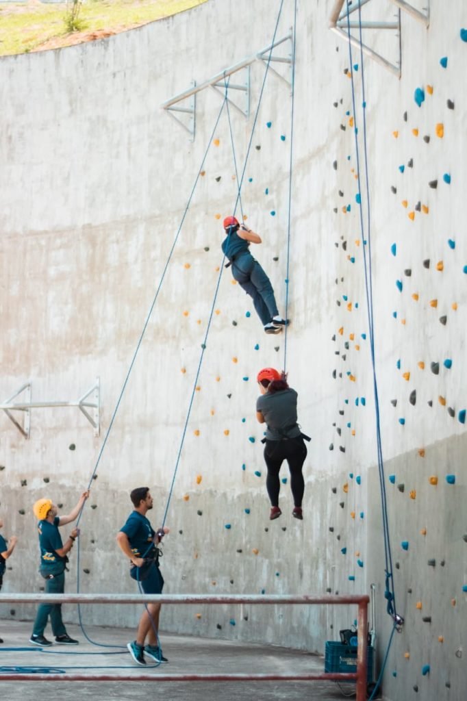
[[(207, 0), (86, 0), (70, 32), (74, 3), (0, 0), (0, 56), (73, 46), (104, 39), (170, 17)], [(76, 8), (76, 5), (75, 5)]]

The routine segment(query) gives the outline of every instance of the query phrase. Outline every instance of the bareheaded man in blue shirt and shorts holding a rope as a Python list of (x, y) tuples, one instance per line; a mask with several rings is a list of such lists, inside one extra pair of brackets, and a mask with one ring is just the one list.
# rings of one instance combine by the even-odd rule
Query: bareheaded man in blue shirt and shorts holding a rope
[[(159, 570), (159, 555), (156, 547), (161, 543), (167, 527), (156, 533), (147, 519), (147, 512), (153, 507), (149, 487), (140, 486), (130, 494), (135, 510), (130, 513), (126, 524), (117, 533), (117, 543), (123, 554), (130, 559), (130, 577), (144, 594), (162, 594), (164, 580)], [(159, 613), (161, 604), (146, 604), (138, 625), (136, 640), (128, 643), (128, 651), (138, 665), (145, 665), (144, 655), (156, 662), (167, 662), (158, 641)], [(144, 642), (148, 639), (148, 644)]]

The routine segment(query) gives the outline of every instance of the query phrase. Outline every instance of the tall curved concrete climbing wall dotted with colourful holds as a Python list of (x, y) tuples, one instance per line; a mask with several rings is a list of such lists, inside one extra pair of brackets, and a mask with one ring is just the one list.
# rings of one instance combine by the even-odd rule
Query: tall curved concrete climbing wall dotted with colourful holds
[[(388, 699), (408, 698), (417, 686), (424, 699), (457, 700), (466, 681), (466, 432), (459, 414), (466, 397), (467, 301), (463, 5), (452, 0), (448, 11), (433, 1), (429, 29), (402, 15), (400, 81), (365, 61), (384, 484), (398, 613), (406, 620), (388, 657)], [(269, 0), (212, 0), (105, 41), (0, 60), (1, 397), (31, 380), (33, 400), (74, 399), (99, 376), (102, 398), (99, 438), (77, 409), (32, 411), (29, 440), (8, 417), (0, 419), (1, 515), (6, 535), (20, 538), (5, 590), (41, 586), (32, 503), (50, 496), (67, 512), (86, 488), (202, 168), (81, 520), (79, 590), (134, 590), (114, 536), (134, 486), (151, 486), (154, 524), (163, 517), (222, 261), (217, 217), (231, 213), (237, 187), (226, 110), (214, 134), (219, 144), (212, 142), (203, 163), (222, 99), (212, 90), (198, 95), (193, 143), (160, 104), (192, 79), (200, 83), (267, 46), (278, 9)], [(285, 484), (283, 515), (269, 522), (262, 427), (255, 421), (255, 375), (264, 365), (283, 365), (285, 339), (264, 334), (250, 299), (224, 271), (170, 498), (163, 573), (167, 592), (344, 594), (376, 583), (381, 662), (391, 619), (363, 268), (368, 232), (365, 220), (362, 235), (356, 205), (348, 47), (327, 29), (330, 10), (323, 1), (297, 4), (287, 369), (299, 392), (302, 428), (313, 437), (305, 519), (292, 519)], [(363, 15), (391, 19), (394, 13), (385, 1), (365, 6)], [(293, 24), (294, 6), (285, 0), (276, 36)], [(397, 60), (398, 36), (367, 34), (364, 41)], [(360, 106), (356, 53), (352, 63), (359, 64), (353, 74)], [(239, 170), (263, 76), (264, 65), (256, 62), (250, 118), (231, 110)], [(417, 87), (426, 96), (420, 108)], [(270, 73), (242, 188), (248, 224), (264, 238), (255, 253), (281, 311), (291, 104), (287, 83)], [(359, 107), (356, 118), (361, 139)], [(444, 124), (442, 138), (437, 123)], [(362, 148), (360, 140), (360, 158)], [(437, 189), (428, 186), (434, 179)], [(364, 190), (362, 199), (366, 208)], [(443, 365), (448, 359), (450, 369)], [(439, 374), (432, 362), (439, 362)], [(446, 475), (455, 475), (455, 484)], [(433, 559), (435, 566), (428, 565)], [(70, 591), (76, 578), (75, 560)], [(15, 615), (33, 613), (20, 607)], [(106, 607), (92, 615), (133, 625), (137, 613)], [(67, 616), (76, 620), (72, 610)], [(423, 621), (430, 616), (431, 623)], [(337, 639), (354, 617), (340, 608), (166, 607), (162, 621), (173, 631), (322, 652), (325, 640)], [(83, 620), (91, 620), (89, 609)], [(423, 665), (431, 665), (426, 676)]]

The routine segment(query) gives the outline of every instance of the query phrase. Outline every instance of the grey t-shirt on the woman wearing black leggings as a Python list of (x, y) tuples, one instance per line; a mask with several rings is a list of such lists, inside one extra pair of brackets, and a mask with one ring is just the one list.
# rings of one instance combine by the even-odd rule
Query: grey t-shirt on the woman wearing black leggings
[(297, 438), (301, 435), (297, 425), (297, 396), (295, 390), (288, 388), (257, 398), (256, 410), (261, 411), (266, 421), (267, 440)]

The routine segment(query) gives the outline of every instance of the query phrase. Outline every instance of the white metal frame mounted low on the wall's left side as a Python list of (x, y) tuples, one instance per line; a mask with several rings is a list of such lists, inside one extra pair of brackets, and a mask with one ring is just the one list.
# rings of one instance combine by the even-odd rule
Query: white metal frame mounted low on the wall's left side
[[(31, 401), (32, 383), (27, 382), (22, 385), (19, 390), (11, 395), (5, 402), (0, 404), (0, 409), (3, 409), (8, 418), (15, 424), (16, 428), (22, 433), (25, 438), (29, 438), (31, 428), (31, 409), (47, 409), (56, 407), (78, 407), (78, 409), (86, 416), (91, 426), (94, 428), (94, 435), (97, 437), (100, 433), (100, 380), (97, 377), (93, 386), (84, 393), (76, 401), (52, 401), (52, 402), (32, 402)], [(13, 400), (22, 395), (23, 401)], [(17, 421), (12, 411), (22, 411), (22, 424)]]

